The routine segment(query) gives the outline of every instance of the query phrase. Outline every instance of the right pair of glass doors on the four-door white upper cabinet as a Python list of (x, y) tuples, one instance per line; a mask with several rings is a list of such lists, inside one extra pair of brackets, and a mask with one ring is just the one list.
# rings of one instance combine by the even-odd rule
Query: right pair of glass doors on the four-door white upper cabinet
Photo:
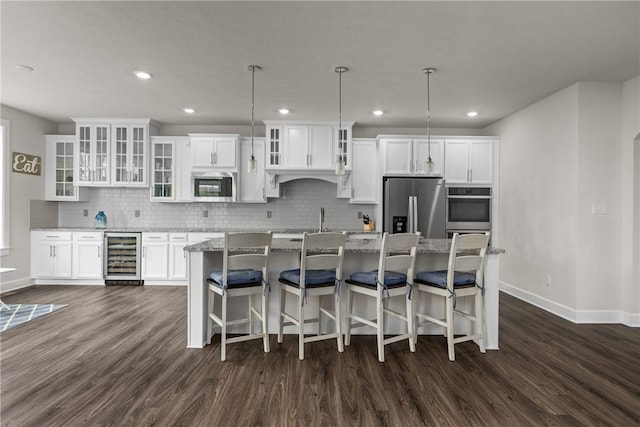
[(146, 124), (113, 124), (111, 127), (112, 185), (146, 187), (148, 136)]

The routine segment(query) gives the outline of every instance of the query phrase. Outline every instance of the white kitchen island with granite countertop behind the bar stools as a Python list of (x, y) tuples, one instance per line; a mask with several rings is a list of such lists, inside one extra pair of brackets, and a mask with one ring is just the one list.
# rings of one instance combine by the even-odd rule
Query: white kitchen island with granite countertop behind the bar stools
[[(351, 273), (357, 271), (375, 270), (378, 267), (378, 255), (381, 239), (349, 239), (345, 246), (343, 279), (348, 278)], [(451, 240), (448, 239), (421, 239), (418, 246), (416, 258), (416, 272), (423, 270), (445, 269), (449, 258), (449, 247)], [(280, 271), (299, 267), (299, 252), (301, 247), (300, 238), (274, 237), (269, 258), (269, 283), (271, 284), (271, 297), (269, 302), (269, 333), (277, 333), (279, 314), (279, 282)], [(211, 271), (222, 270), (222, 253), (224, 248), (223, 239), (211, 239), (194, 245), (187, 246), (188, 259), (188, 295), (187, 295), (187, 347), (203, 348), (207, 342), (207, 282), (206, 277)], [(498, 303), (499, 303), (499, 258), (502, 249), (490, 248), (485, 259), (485, 324), (486, 342), (488, 349), (498, 349)], [(342, 287), (344, 293), (344, 286)], [(415, 295), (415, 294), (414, 294)], [(242, 300), (242, 299), (236, 299)], [(345, 299), (342, 299), (345, 301)], [(392, 301), (398, 303), (398, 301)], [(238, 303), (235, 304), (234, 303)], [(313, 302), (309, 301), (311, 305)], [(369, 301), (359, 302), (354, 300), (354, 305), (366, 304), (359, 307), (373, 316), (375, 304)], [(465, 304), (462, 300), (459, 304)], [(421, 305), (430, 304), (430, 310), (443, 311), (442, 304), (434, 305), (426, 298), (422, 298)], [(229, 313), (234, 316), (234, 311), (244, 310), (245, 303), (241, 301), (230, 301)], [(310, 307), (313, 310), (313, 306)], [(344, 309), (344, 307), (343, 307)], [(233, 317), (232, 317), (233, 318)], [(457, 322), (458, 319), (456, 319)], [(460, 324), (456, 323), (456, 329), (468, 328), (469, 326), (460, 319)], [(389, 319), (387, 330), (395, 331), (400, 327)], [(238, 331), (243, 332), (243, 331)], [(285, 333), (287, 330), (285, 329)], [(354, 333), (375, 333), (371, 328), (359, 328)], [(421, 328), (420, 334), (442, 334), (442, 328), (436, 325)]]

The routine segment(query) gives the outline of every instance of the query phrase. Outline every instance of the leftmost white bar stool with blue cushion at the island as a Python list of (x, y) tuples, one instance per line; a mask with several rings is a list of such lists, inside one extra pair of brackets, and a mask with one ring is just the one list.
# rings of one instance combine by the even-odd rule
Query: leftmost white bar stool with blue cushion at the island
[[(222, 271), (213, 271), (207, 278), (209, 284), (207, 337), (211, 343), (213, 323), (220, 327), (220, 360), (226, 360), (227, 344), (262, 339), (265, 353), (269, 352), (269, 282), (267, 270), (271, 251), (270, 232), (225, 233)], [(215, 312), (216, 296), (220, 297), (220, 312)], [(261, 296), (261, 307), (257, 306)], [(227, 319), (228, 299), (248, 298), (247, 317)], [(254, 317), (261, 324), (261, 331), (254, 332)], [(227, 338), (227, 328), (246, 324), (247, 334)]]

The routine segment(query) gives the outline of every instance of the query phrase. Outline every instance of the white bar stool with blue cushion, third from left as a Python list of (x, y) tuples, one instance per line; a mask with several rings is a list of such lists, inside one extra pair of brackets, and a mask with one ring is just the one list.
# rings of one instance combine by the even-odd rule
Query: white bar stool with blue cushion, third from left
[[(345, 344), (351, 342), (351, 328), (372, 326), (376, 328), (378, 343), (378, 360), (384, 362), (384, 346), (397, 341), (408, 340), (409, 350), (415, 351), (414, 343), (414, 314), (411, 302), (413, 273), (416, 253), (420, 236), (413, 233), (389, 234), (384, 233), (380, 247), (378, 269), (353, 273), (347, 283), (347, 330)], [(365, 319), (354, 314), (353, 294), (373, 297), (376, 301), (375, 319)], [(394, 297), (405, 300), (405, 313), (399, 313), (389, 308), (389, 301)], [(403, 321), (407, 327), (406, 333), (399, 333), (388, 338), (384, 337), (385, 315)], [(356, 321), (354, 324), (353, 321)]]

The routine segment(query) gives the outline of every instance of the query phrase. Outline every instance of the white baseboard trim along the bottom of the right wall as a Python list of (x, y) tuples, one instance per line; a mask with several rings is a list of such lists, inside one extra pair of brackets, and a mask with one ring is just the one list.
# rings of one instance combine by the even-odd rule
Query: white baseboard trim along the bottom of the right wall
[(638, 313), (634, 314), (620, 310), (576, 310), (503, 281), (500, 281), (500, 291), (572, 323), (620, 323), (626, 326), (640, 327), (640, 314)]

